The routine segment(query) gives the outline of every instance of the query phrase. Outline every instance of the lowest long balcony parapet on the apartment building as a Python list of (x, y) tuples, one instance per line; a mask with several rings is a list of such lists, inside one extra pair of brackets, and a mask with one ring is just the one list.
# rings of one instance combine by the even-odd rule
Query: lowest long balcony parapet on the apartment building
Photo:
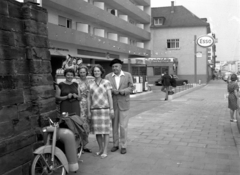
[[(101, 31), (98, 31), (101, 34)], [(100, 49), (109, 52), (118, 52), (131, 54), (136, 56), (150, 55), (150, 50), (140, 48), (134, 45), (124, 44), (126, 38), (121, 38), (122, 42), (114, 41), (117, 37), (115, 34), (109, 35), (111, 39), (103, 38), (95, 35), (90, 35), (85, 32), (61, 27), (55, 24), (48, 23), (48, 37), (51, 41), (58, 41), (66, 44), (75, 45), (76, 48), (87, 47)]]

